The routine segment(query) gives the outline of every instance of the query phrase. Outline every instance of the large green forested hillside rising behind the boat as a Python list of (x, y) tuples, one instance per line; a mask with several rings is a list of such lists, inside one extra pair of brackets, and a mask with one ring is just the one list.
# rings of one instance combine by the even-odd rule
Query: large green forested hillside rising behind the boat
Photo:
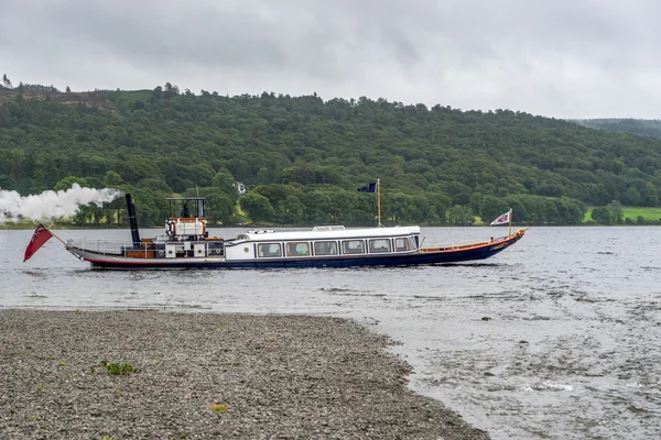
[[(509, 208), (521, 222), (571, 224), (585, 205), (659, 206), (659, 164), (660, 140), (508, 110), (196, 96), (170, 84), (0, 94), (0, 188), (117, 187), (134, 195), (142, 224), (162, 222), (164, 197), (196, 190), (215, 221), (237, 221), (238, 205), (254, 222), (373, 224), (375, 197), (356, 188), (377, 178), (386, 224)], [(118, 221), (112, 212), (86, 219)]]

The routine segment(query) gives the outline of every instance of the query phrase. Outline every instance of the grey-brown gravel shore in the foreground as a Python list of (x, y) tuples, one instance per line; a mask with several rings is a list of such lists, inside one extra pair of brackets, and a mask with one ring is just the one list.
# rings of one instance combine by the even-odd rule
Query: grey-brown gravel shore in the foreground
[(390, 343), (327, 317), (0, 310), (0, 440), (489, 438), (408, 389)]

